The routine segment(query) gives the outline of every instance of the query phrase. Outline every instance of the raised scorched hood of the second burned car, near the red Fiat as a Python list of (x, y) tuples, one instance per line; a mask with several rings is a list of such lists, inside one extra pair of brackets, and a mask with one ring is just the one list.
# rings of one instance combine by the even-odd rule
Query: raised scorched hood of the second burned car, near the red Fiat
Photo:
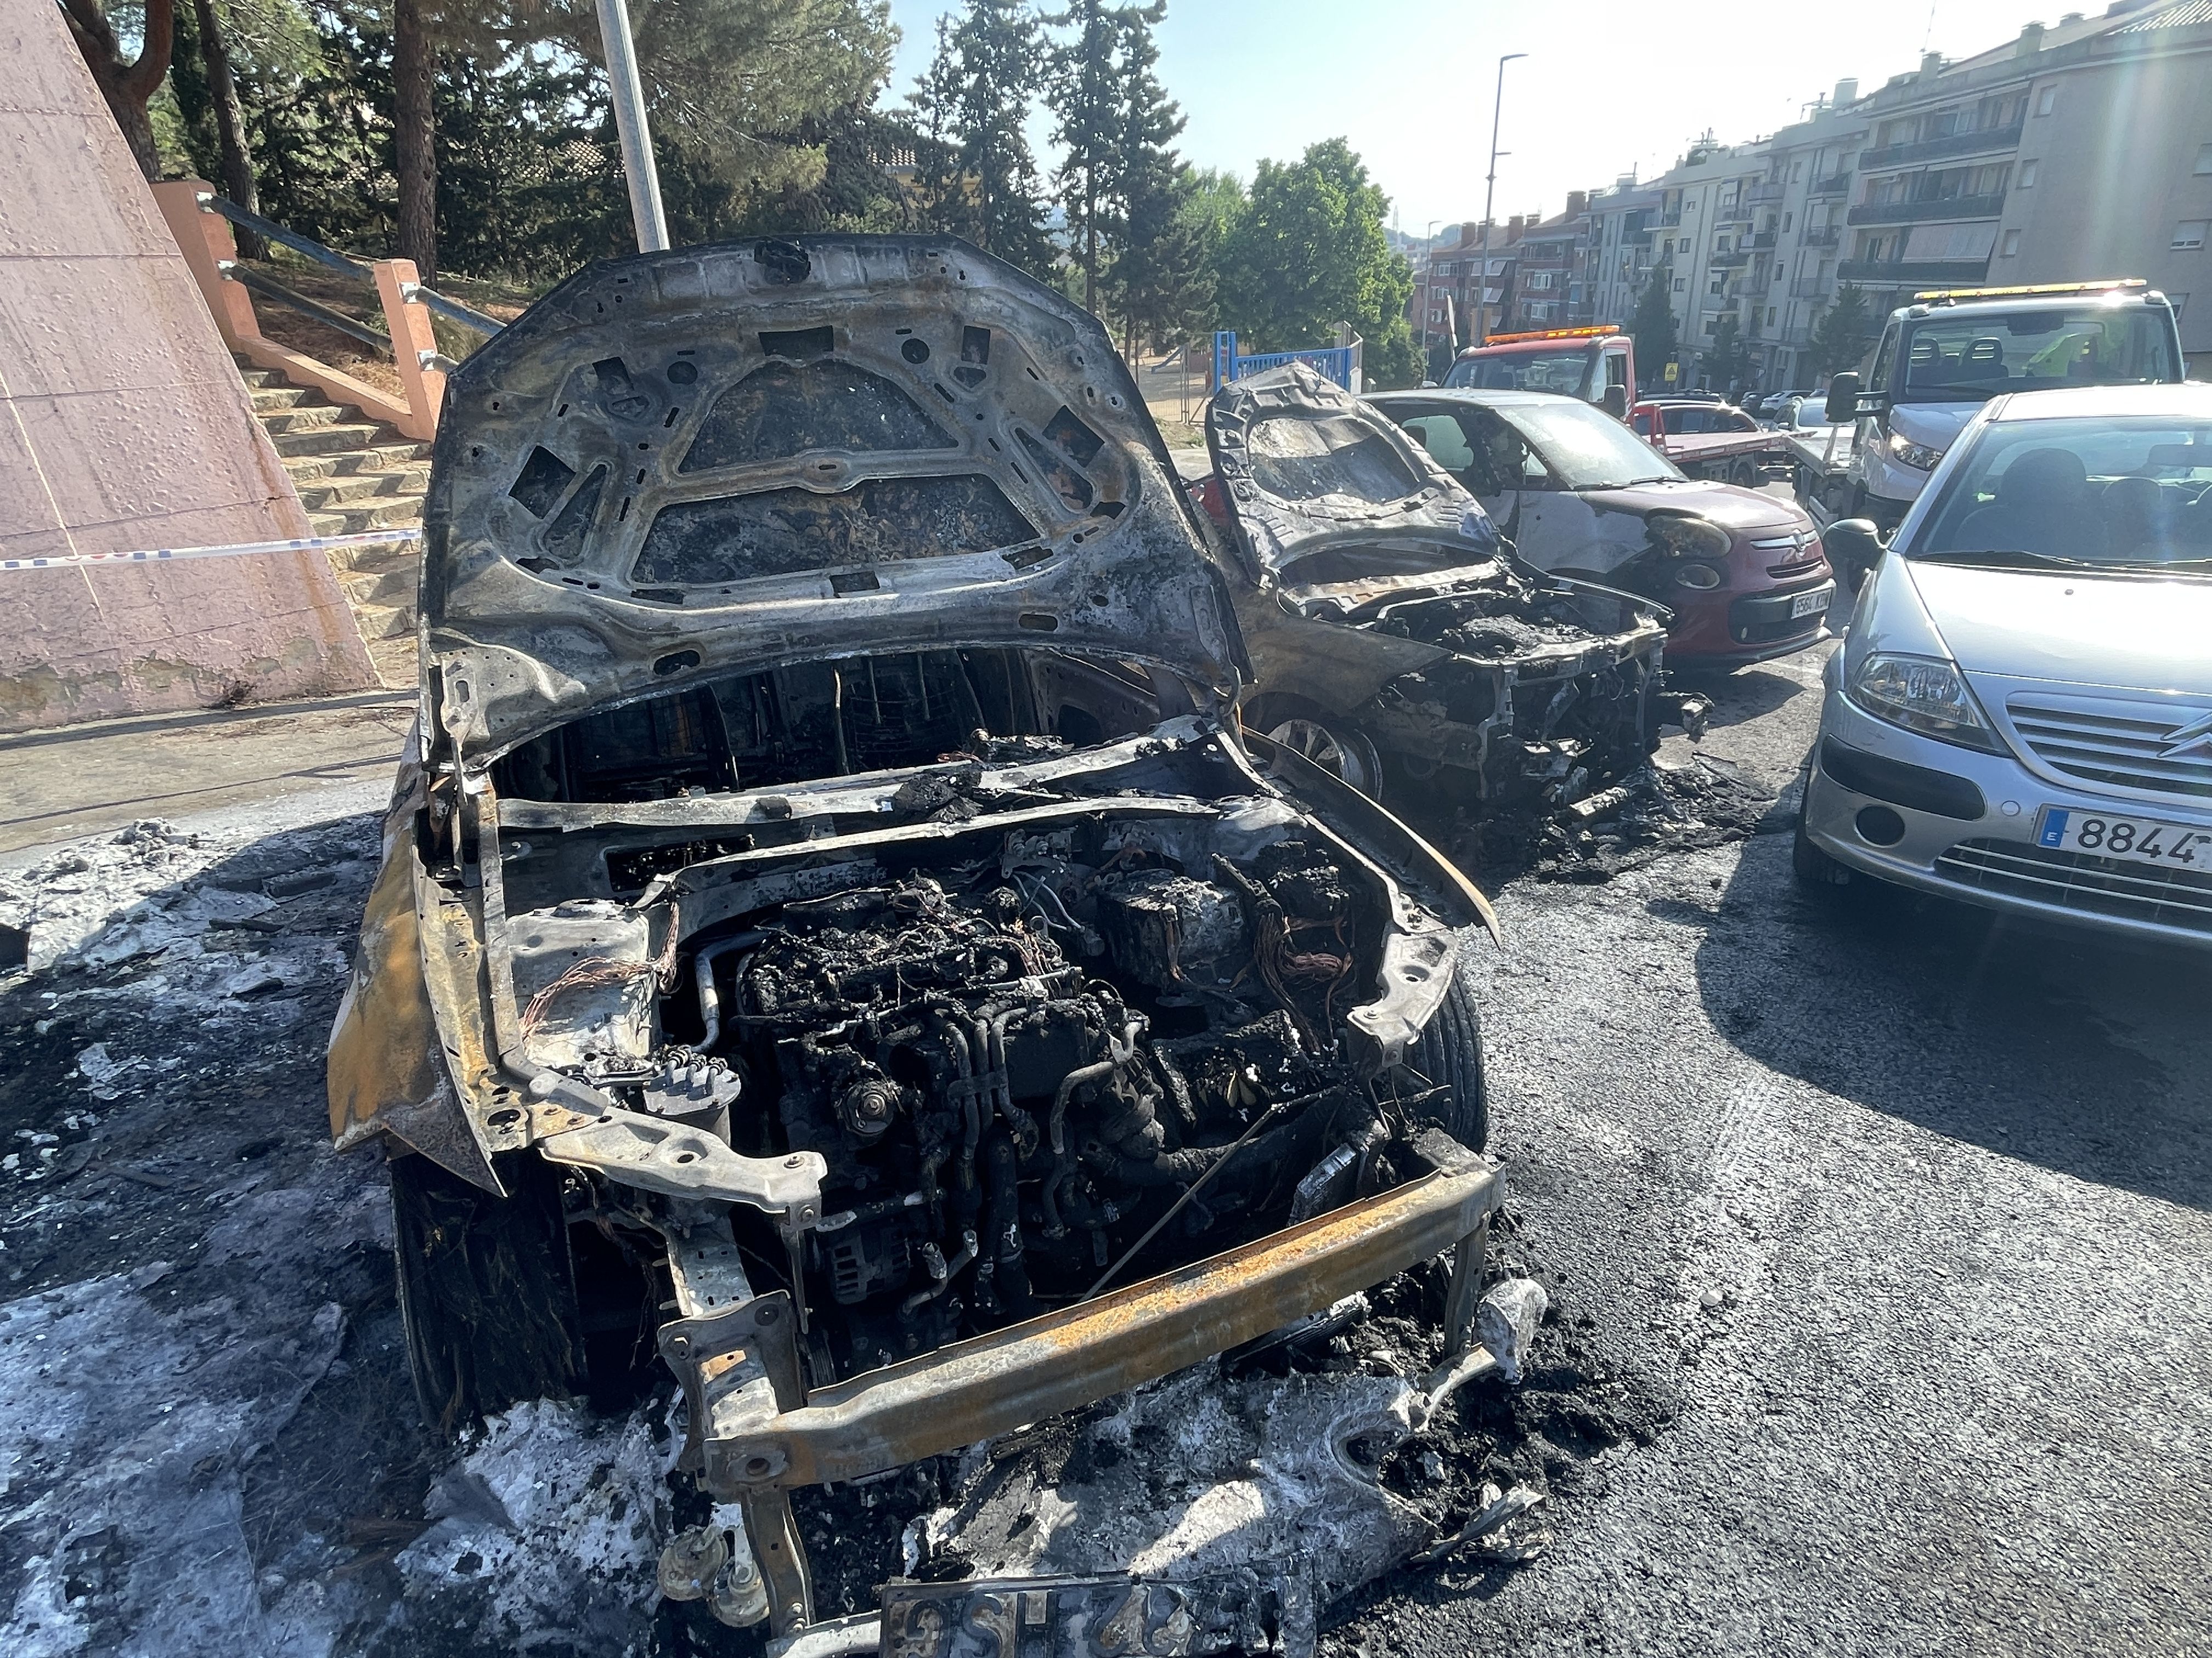
[(1206, 447), (1254, 579), (1347, 535), (1444, 535), (1469, 564), (1498, 548), (1482, 506), (1427, 449), (1305, 363), (1221, 387)]

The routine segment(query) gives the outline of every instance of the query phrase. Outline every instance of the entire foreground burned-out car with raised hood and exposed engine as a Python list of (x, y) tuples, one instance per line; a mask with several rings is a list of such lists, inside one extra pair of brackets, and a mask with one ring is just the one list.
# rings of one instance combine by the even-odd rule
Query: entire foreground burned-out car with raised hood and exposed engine
[(1239, 730), (1201, 537), (1104, 329), (958, 241), (613, 261), (449, 382), (332, 1127), (434, 1424), (681, 1384), (661, 1587), (728, 1623), (814, 1618), (794, 1488), (1416, 1262), (1467, 1340), (1489, 906)]

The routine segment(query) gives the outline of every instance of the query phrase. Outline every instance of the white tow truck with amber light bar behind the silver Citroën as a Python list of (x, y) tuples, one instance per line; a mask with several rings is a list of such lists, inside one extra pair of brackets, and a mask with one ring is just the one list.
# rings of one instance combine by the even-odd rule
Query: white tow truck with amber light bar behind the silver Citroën
[(2183, 374), (2174, 305), (2141, 279), (1913, 294), (1889, 314), (1865, 378), (1829, 382), (1829, 420), (1858, 427), (1849, 511), (1893, 531), (1993, 396)]

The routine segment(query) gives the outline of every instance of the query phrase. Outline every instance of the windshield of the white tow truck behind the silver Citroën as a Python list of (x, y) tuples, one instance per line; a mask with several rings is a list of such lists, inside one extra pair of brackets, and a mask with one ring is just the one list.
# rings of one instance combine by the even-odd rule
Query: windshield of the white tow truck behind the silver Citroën
[(1900, 402), (1980, 402), (2000, 391), (2179, 380), (2166, 312), (2143, 305), (1936, 312), (1907, 327)]

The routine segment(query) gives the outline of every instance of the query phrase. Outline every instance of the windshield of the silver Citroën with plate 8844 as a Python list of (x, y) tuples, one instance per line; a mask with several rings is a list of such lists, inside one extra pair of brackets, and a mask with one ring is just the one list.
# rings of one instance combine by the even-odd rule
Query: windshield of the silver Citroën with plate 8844
[(2212, 420), (2000, 420), (1960, 455), (1911, 559), (2212, 559)]

